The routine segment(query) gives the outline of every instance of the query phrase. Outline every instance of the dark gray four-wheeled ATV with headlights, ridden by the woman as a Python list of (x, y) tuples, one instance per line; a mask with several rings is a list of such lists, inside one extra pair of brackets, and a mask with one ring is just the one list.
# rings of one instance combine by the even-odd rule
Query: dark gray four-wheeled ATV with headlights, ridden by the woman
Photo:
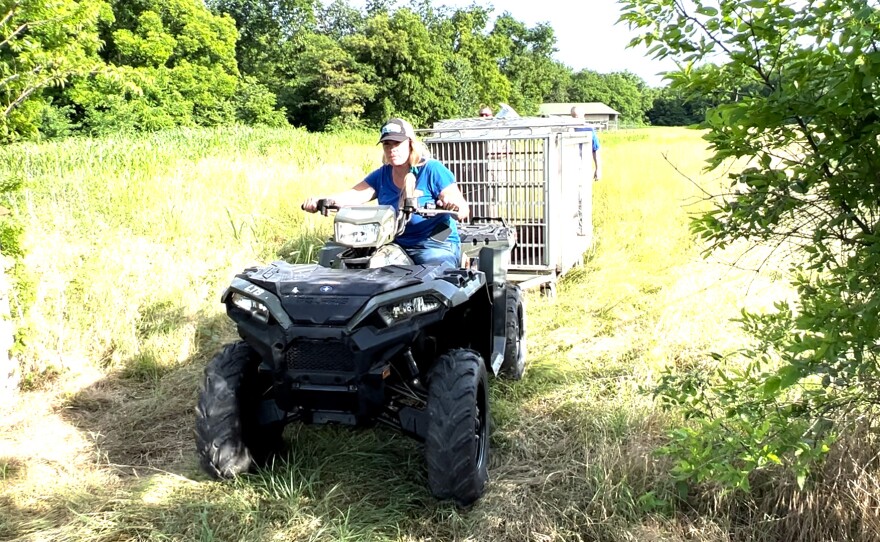
[(415, 265), (393, 243), (418, 209), (337, 207), (319, 263), (283, 261), (236, 275), (222, 296), (240, 341), (205, 368), (196, 416), (204, 470), (234, 477), (284, 450), (291, 422), (381, 423), (424, 442), (428, 484), (461, 506), (484, 492), (488, 375), (520, 379), (525, 311), (507, 280), (514, 232), (459, 229), (469, 265)]

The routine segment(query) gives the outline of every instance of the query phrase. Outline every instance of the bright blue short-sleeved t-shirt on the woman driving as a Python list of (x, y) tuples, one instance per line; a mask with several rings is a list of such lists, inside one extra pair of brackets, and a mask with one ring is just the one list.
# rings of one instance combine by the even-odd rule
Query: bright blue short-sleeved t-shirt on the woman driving
[[(428, 159), (416, 166), (415, 176), (419, 207), (436, 202), (440, 199), (440, 192), (455, 182), (455, 175), (434, 159)], [(392, 205), (395, 210), (397, 209), (400, 201), (400, 189), (394, 185), (394, 180), (391, 178), (390, 164), (376, 169), (367, 175), (364, 181), (376, 191), (379, 205)], [(446, 229), (449, 230), (449, 235), (445, 241), (460, 244), (458, 227), (452, 215), (443, 214), (430, 218), (413, 215), (406, 225), (406, 229), (397, 236), (395, 242), (404, 248), (418, 246), (432, 235), (442, 237)]]

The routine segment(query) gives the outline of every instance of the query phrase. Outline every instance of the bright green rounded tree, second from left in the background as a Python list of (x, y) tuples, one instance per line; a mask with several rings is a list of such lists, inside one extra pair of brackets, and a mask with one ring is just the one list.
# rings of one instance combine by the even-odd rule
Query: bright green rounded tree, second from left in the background
[(113, 0), (107, 68), (75, 81), (67, 98), (92, 133), (213, 126), (236, 119), (240, 88), (231, 18), (195, 0)]

